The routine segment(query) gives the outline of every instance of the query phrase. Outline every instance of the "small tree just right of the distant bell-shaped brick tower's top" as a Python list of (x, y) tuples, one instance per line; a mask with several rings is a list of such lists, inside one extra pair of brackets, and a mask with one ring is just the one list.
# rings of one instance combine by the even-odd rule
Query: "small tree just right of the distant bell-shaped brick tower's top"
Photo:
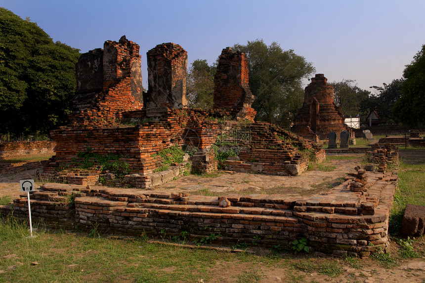
[(361, 102), (369, 97), (370, 91), (357, 87), (354, 80), (334, 81), (329, 84), (334, 87), (334, 103), (341, 106), (342, 114), (346, 118), (364, 114), (361, 111)]

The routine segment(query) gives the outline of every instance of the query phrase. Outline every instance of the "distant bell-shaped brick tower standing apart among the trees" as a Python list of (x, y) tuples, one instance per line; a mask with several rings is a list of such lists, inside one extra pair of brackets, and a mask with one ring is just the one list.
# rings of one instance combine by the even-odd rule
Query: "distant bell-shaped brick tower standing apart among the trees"
[(305, 87), (304, 103), (292, 127), (298, 135), (325, 139), (331, 130), (340, 133), (346, 129), (341, 108), (334, 104), (334, 88), (327, 81), (323, 74), (316, 74)]

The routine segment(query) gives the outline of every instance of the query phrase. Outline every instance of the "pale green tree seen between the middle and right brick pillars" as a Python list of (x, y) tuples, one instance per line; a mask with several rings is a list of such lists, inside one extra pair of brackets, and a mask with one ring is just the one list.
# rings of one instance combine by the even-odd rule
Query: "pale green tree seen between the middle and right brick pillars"
[(197, 59), (187, 73), (186, 97), (189, 107), (209, 109), (213, 106), (214, 75), (217, 68), (207, 60)]

